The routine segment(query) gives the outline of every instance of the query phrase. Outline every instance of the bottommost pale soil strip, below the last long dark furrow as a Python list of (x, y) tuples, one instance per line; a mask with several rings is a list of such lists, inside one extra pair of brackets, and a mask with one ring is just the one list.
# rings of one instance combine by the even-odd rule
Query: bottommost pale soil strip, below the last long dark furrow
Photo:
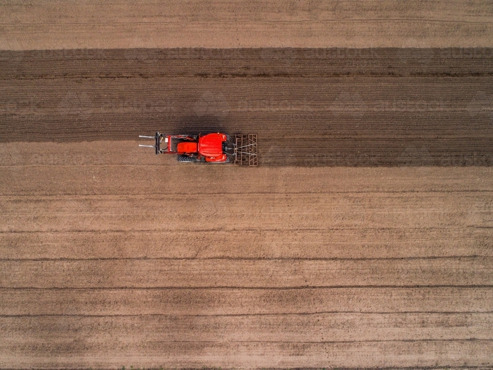
[[(100, 333), (98, 331), (98, 333)], [(133, 333), (133, 330), (132, 330)], [(398, 341), (349, 341), (349, 342), (199, 342), (153, 341), (118, 343), (107, 341), (100, 346), (94, 339), (70, 337), (59, 342), (39, 344), (23, 340), (6, 348), (0, 355), (5, 367), (29, 368), (65, 367), (78, 369), (91, 363), (98, 368), (112, 368), (115, 364), (139, 364), (146, 368), (322, 368), (334, 367), (399, 367), (408, 368), (410, 362), (419, 368), (447, 367), (488, 369), (491, 364), (493, 340), (398, 340)], [(111, 346), (110, 348), (108, 348)], [(19, 352), (23, 353), (18, 357)], [(53, 354), (46, 357), (46, 353)], [(464, 365), (464, 363), (466, 365)]]

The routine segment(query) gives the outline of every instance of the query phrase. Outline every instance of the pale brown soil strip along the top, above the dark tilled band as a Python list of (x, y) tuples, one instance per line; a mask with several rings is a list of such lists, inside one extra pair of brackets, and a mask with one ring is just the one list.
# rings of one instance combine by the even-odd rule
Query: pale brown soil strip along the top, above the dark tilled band
[(488, 1), (9, 1), (0, 49), (491, 47)]

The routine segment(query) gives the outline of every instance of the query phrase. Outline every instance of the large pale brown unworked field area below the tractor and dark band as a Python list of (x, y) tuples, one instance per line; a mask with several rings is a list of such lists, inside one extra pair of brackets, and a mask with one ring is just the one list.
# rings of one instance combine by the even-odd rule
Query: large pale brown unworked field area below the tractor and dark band
[(3, 368), (492, 366), (491, 167), (0, 148)]

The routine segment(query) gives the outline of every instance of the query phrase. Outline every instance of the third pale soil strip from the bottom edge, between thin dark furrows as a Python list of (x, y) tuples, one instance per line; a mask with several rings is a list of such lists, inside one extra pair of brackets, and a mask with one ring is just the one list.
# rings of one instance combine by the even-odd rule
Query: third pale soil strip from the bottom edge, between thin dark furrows
[(492, 313), (492, 288), (0, 289), (2, 316)]

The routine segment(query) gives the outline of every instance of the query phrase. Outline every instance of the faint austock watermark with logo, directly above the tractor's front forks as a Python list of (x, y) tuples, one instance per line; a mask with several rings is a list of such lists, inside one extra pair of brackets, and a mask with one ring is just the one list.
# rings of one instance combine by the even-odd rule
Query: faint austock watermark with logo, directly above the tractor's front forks
[(68, 92), (58, 104), (57, 109), (61, 114), (81, 117), (100, 113), (171, 114), (175, 111), (174, 104), (169, 98), (151, 100), (116, 96), (96, 100), (85, 91)]

